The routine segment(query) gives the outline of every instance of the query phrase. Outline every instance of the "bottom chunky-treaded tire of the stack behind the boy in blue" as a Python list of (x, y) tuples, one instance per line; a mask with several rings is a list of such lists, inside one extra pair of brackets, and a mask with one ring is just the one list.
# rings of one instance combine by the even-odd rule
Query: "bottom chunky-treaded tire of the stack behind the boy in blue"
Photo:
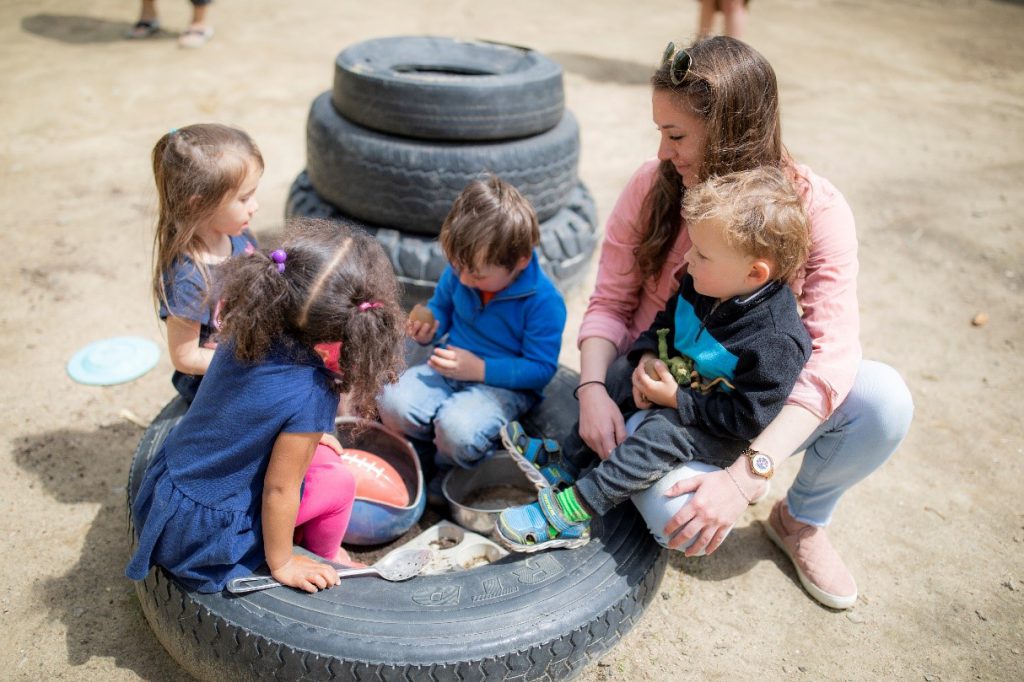
[[(343, 220), (375, 235), (406, 288), (404, 301), (410, 306), (430, 298), (447, 265), (436, 239), (375, 227), (346, 216), (313, 189), (305, 171), (299, 173), (288, 191), (285, 216)], [(569, 194), (565, 207), (541, 223), (541, 267), (563, 293), (579, 284), (587, 271), (597, 247), (597, 224), (594, 200), (582, 182)]]

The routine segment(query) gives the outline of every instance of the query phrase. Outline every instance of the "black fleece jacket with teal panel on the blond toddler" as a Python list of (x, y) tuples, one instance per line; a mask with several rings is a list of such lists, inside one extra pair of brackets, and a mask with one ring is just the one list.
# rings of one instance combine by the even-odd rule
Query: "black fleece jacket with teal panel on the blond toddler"
[(670, 357), (684, 354), (705, 381), (722, 377), (734, 386), (720, 383), (708, 395), (680, 386), (677, 394), (683, 424), (721, 437), (751, 440), (761, 433), (781, 412), (811, 354), (797, 299), (779, 282), (720, 303), (696, 293), (685, 275), (679, 295), (630, 349), (634, 366), (645, 352), (657, 354), (657, 330), (666, 328), (672, 330)]

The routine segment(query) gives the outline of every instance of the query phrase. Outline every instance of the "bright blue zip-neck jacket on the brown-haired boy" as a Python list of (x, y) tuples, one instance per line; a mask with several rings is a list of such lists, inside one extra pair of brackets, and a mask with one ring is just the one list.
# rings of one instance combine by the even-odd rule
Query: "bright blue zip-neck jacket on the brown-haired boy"
[(484, 360), (483, 383), (534, 391), (555, 376), (565, 328), (565, 302), (541, 269), (537, 254), (508, 287), (483, 305), (480, 292), (459, 282), (452, 266), (441, 274), (428, 305), (437, 341)]

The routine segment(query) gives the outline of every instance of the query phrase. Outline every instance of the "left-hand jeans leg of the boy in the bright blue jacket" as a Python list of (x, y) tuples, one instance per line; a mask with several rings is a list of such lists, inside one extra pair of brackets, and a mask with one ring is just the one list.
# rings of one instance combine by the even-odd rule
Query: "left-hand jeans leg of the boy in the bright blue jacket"
[(454, 383), (426, 365), (414, 365), (398, 383), (385, 386), (377, 400), (384, 426), (409, 437), (425, 464), (434, 454), (434, 419), (456, 391)]

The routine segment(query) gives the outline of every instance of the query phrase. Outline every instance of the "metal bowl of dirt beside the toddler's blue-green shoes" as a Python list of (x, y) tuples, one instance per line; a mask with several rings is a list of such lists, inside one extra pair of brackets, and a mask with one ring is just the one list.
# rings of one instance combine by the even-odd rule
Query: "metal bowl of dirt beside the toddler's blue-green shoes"
[(441, 485), (452, 520), (481, 535), (493, 535), (503, 509), (537, 501), (537, 488), (508, 453), (499, 452), (472, 469), (453, 469)]

